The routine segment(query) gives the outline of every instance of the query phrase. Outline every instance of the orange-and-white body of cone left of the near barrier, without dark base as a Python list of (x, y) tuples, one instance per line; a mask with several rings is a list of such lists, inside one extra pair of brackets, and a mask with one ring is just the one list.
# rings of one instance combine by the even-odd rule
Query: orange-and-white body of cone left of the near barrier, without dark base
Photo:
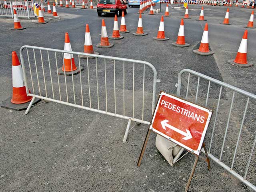
[(26, 87), (23, 81), (23, 73), (22, 73), (20, 61), (18, 59), (16, 52), (13, 51), (12, 52), (12, 99), (11, 99), (11, 102), (14, 104), (22, 104), (22, 103), (29, 102), (31, 100), (32, 100), (32, 97), (27, 96)]

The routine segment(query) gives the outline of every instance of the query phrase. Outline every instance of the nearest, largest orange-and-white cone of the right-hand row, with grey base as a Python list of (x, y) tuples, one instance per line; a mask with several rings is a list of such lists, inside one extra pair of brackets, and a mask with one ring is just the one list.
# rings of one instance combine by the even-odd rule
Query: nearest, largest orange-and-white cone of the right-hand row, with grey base
[(234, 60), (229, 60), (228, 63), (238, 66), (238, 67), (250, 67), (253, 66), (252, 62), (247, 61), (247, 35), (248, 30), (244, 31), (243, 38), (241, 40), (236, 58)]

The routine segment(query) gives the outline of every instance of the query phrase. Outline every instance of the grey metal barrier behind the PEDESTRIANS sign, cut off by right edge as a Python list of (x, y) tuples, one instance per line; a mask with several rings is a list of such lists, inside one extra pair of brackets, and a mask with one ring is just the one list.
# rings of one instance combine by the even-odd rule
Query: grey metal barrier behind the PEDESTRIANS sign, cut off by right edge
[[(189, 69), (179, 73), (176, 94), (214, 110), (208, 128), (211, 134), (205, 138), (206, 145), (209, 144), (208, 156), (256, 191), (256, 95)], [(173, 163), (182, 152), (183, 149)]]

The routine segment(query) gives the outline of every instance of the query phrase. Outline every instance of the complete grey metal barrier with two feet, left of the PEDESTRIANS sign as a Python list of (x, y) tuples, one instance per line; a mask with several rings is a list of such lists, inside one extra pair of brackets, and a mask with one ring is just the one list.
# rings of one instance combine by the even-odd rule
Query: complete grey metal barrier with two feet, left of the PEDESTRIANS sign
[[(63, 65), (64, 53), (73, 54), (77, 68), (84, 70), (71, 76), (66, 72), (58, 74), (56, 70)], [(126, 142), (131, 121), (150, 124), (159, 80), (149, 62), (36, 46), (22, 46), (20, 60), (26, 92), (33, 97), (25, 114), (34, 99), (40, 98), (127, 119), (123, 142)], [(29, 88), (32, 88), (31, 93)]]

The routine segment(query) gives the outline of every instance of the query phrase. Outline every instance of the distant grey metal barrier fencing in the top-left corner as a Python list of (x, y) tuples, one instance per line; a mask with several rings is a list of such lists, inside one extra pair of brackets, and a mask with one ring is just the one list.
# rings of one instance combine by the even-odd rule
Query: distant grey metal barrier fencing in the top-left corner
[(13, 10), (16, 10), (18, 17), (35, 17), (33, 11), (33, 2), (24, 1), (24, 2), (12, 2), (12, 1), (0, 1), (0, 16), (12, 17)]

